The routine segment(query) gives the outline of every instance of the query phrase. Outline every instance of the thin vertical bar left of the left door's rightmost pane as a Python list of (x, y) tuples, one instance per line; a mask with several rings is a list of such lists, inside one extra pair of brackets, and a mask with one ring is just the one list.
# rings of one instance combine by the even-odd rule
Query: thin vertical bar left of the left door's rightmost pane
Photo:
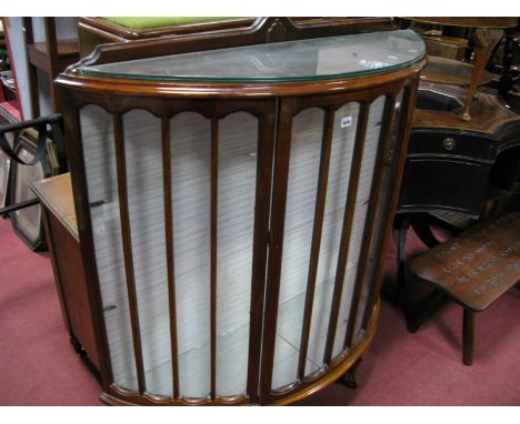
[(211, 398), (217, 396), (217, 206), (219, 121), (211, 119)]

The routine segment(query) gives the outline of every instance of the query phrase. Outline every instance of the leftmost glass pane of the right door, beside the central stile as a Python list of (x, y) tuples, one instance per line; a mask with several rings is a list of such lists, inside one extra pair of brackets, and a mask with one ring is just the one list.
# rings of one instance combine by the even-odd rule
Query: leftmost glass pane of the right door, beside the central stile
[(273, 388), (293, 383), (298, 374), (323, 119), (321, 109), (311, 108), (292, 120)]

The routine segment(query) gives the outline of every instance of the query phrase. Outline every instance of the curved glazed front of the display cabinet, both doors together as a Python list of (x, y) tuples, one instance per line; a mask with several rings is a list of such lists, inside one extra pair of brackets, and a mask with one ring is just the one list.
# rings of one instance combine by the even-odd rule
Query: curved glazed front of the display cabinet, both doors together
[(338, 378), (374, 327), (410, 92), (66, 104), (103, 396), (266, 404)]

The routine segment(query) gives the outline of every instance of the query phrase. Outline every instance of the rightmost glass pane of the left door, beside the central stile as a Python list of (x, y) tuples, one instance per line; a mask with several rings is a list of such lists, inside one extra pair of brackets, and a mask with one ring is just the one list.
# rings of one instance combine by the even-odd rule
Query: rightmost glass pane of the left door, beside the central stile
[(219, 121), (217, 194), (217, 393), (246, 393), (251, 310), (258, 120)]

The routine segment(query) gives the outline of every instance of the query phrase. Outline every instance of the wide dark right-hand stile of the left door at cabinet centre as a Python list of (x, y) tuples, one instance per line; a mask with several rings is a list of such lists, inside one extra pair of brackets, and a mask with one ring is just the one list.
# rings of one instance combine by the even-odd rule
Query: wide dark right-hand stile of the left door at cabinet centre
[(257, 186), (254, 200), (254, 241), (251, 282), (251, 319), (249, 330), (248, 395), (251, 403), (258, 402), (260, 352), (262, 337), (263, 302), (266, 294), (266, 246), (269, 243), (269, 210), (272, 180), (272, 149), (274, 117), (266, 114), (258, 127)]

